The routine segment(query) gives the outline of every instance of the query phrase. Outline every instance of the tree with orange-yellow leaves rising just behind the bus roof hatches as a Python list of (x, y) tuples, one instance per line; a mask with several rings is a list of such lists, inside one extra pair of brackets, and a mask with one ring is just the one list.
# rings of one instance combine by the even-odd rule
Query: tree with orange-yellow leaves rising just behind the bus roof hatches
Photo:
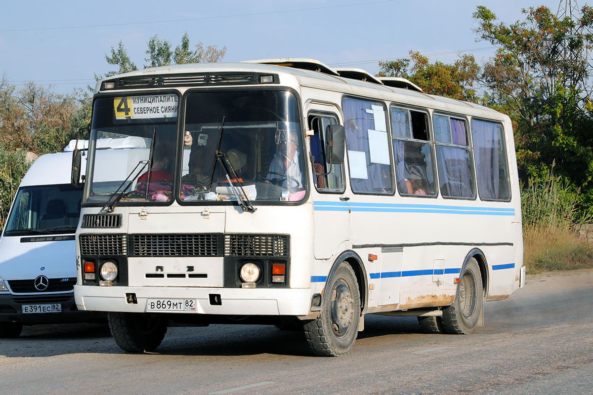
[(407, 78), (428, 94), (477, 101), (474, 84), (480, 68), (473, 55), (463, 54), (454, 64), (447, 65), (430, 63), (428, 57), (410, 51), (410, 59), (380, 62), (379, 67), (378, 76)]

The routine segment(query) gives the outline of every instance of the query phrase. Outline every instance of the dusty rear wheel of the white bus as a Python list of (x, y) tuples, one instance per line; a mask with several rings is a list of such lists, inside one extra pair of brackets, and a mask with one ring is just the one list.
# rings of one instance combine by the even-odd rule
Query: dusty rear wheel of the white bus
[(473, 332), (482, 313), (483, 298), (480, 268), (476, 259), (471, 258), (457, 285), (455, 301), (443, 309), (445, 331), (458, 335)]

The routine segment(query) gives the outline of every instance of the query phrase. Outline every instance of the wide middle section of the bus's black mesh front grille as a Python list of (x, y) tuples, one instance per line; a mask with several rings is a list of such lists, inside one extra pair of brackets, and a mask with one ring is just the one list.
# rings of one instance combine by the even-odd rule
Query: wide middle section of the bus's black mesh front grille
[(222, 233), (130, 235), (130, 256), (222, 256)]

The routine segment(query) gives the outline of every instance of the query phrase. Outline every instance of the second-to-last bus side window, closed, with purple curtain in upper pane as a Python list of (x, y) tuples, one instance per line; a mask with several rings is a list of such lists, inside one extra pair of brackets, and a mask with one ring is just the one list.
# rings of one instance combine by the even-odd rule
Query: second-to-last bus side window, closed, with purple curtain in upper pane
[(476, 188), (466, 121), (448, 115), (435, 115), (433, 120), (442, 196), (473, 199), (476, 197)]

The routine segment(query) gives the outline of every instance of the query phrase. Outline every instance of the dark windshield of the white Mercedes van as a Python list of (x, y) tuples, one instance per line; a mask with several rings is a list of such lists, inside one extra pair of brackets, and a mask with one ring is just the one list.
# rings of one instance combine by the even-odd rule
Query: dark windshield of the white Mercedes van
[(69, 184), (18, 190), (4, 236), (74, 233), (82, 190)]

